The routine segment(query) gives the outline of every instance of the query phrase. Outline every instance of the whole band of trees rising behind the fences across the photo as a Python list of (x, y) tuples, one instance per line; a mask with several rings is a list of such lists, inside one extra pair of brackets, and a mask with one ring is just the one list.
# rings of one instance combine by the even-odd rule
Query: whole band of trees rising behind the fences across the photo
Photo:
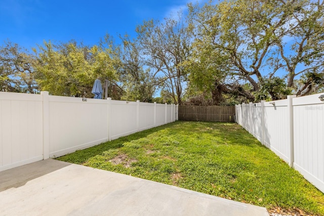
[[(146, 20), (136, 36), (97, 45), (44, 41), (32, 52), (0, 47), (0, 91), (113, 99), (235, 104), (324, 90), (324, 1), (228, 0)], [(159, 93), (160, 95), (157, 95)], [(159, 96), (159, 97), (158, 97)], [(155, 99), (154, 99), (155, 98)]]

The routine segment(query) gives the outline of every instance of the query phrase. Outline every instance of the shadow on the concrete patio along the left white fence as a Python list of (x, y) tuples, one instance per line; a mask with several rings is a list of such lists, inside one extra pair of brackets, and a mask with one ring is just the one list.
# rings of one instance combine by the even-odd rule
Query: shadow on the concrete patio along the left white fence
[(48, 159), (1, 171), (0, 192), (9, 188), (21, 187), (33, 179), (69, 165), (71, 165), (71, 163)]

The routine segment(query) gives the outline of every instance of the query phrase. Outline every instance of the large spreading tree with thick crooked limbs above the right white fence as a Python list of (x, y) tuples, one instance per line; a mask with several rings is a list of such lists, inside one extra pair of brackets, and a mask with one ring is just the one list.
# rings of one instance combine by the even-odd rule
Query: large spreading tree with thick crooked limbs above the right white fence
[[(212, 92), (217, 88), (214, 83), (250, 83), (250, 94), (257, 100), (287, 93), (302, 96), (321, 88), (321, 79), (306, 75), (323, 74), (324, 69), (320, 1), (211, 1), (202, 7), (189, 4), (188, 17), (195, 32), (186, 64), (189, 86)], [(298, 89), (295, 83), (300, 75), (307, 78)], [(279, 87), (268, 88), (270, 83)]]

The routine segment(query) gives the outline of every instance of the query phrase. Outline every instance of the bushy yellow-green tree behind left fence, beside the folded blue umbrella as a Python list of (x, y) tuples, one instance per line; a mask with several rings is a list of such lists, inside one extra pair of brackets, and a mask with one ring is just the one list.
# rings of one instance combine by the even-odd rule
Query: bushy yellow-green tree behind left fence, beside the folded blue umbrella
[(87, 47), (70, 41), (38, 46), (36, 72), (42, 91), (59, 96), (92, 98), (96, 78), (116, 80), (116, 62), (111, 51), (98, 46)]

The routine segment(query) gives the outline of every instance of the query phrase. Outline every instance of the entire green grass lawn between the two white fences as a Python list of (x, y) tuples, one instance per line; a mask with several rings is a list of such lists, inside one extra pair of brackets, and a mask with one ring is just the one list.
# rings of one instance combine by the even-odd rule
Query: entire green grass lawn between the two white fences
[(324, 194), (235, 123), (176, 121), (57, 159), (269, 210), (324, 215)]

